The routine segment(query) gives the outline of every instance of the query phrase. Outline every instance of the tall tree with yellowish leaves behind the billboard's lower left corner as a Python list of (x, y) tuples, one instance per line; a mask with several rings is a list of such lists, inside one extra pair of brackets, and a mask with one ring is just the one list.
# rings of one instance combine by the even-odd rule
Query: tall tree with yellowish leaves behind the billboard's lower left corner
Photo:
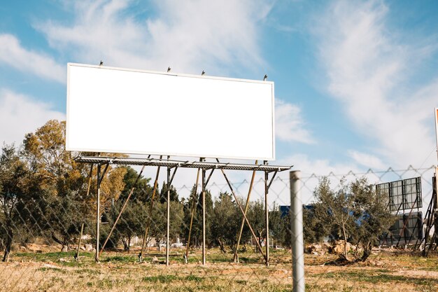
[[(80, 225), (93, 216), (96, 199), (92, 195), (86, 197), (90, 166), (76, 163), (72, 153), (66, 151), (65, 130), (64, 121), (49, 120), (25, 136), (20, 154), (39, 188), (31, 193), (35, 206), (28, 208), (29, 216), (37, 218), (46, 237), (69, 246), (80, 232)], [(117, 200), (125, 187), (125, 172), (125, 167), (108, 167), (101, 183), (102, 213), (111, 208), (112, 200)], [(96, 167), (93, 174), (95, 186)]]

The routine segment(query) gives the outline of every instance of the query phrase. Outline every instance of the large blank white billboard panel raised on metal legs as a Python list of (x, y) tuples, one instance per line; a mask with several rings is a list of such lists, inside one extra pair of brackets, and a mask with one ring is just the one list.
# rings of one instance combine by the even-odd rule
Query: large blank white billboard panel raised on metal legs
[(274, 83), (67, 64), (66, 149), (275, 159)]

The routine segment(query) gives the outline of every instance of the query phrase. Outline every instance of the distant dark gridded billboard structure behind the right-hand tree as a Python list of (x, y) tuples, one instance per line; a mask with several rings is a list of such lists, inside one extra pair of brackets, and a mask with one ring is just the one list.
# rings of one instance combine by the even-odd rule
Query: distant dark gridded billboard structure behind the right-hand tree
[(388, 198), (388, 209), (397, 221), (381, 238), (383, 245), (415, 244), (423, 239), (421, 177), (376, 185), (376, 193)]

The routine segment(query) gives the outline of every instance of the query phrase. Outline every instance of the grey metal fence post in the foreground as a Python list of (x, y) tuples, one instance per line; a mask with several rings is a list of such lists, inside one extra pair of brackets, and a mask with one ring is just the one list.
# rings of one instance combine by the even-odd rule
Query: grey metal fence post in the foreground
[(301, 200), (301, 172), (290, 172), (290, 230), (292, 236), (293, 292), (304, 292), (303, 205)]

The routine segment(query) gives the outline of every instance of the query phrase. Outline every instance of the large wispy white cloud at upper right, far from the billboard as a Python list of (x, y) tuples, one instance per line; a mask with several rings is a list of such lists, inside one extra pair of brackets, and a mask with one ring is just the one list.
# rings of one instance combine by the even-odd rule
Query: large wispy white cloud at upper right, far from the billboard
[(375, 144), (374, 154), (387, 165), (419, 167), (435, 147), (438, 80), (418, 89), (409, 88), (409, 78), (418, 71), (412, 60), (425, 60), (436, 46), (397, 41), (387, 16), (381, 1), (337, 1), (318, 28), (320, 57), (329, 92), (364, 139)]

